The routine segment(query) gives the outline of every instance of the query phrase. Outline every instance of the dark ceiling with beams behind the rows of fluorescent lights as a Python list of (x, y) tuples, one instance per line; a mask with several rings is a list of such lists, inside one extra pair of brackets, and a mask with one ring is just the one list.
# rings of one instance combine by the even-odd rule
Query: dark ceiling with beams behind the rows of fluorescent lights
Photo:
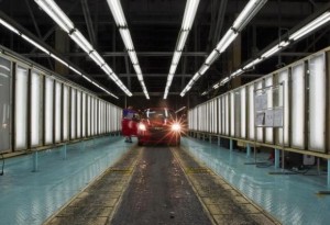
[(55, 52), (73, 63), (76, 68), (102, 85), (119, 99), (108, 95), (80, 76), (74, 75), (70, 70), (58, 68), (53, 58), (34, 49), (32, 45), (26, 44), (4, 27), (0, 27), (0, 45), (44, 67), (56, 70), (58, 74), (120, 106), (125, 104), (136, 108), (155, 104), (167, 104), (174, 109), (187, 104), (193, 106), (230, 88), (243, 85), (290, 64), (308, 55), (308, 53), (314, 53), (330, 45), (329, 26), (323, 26), (322, 30), (299, 41), (277, 56), (263, 61), (253, 70), (243, 74), (237, 81), (201, 95), (215, 82), (228, 77), (230, 72), (241, 67), (272, 43), (278, 42), (280, 36), (287, 34), (301, 21), (320, 9), (329, 8), (328, 0), (268, 0), (235, 42), (221, 54), (210, 69), (182, 98), (179, 93), (248, 3), (248, 0), (200, 0), (167, 100), (163, 100), (186, 0), (121, 0), (144, 76), (144, 82), (151, 98), (146, 100), (124, 49), (107, 0), (56, 0), (55, 2), (95, 46), (133, 93), (133, 97), (127, 97), (33, 0), (0, 0), (0, 9), (12, 21), (34, 34), (38, 41), (54, 48)]

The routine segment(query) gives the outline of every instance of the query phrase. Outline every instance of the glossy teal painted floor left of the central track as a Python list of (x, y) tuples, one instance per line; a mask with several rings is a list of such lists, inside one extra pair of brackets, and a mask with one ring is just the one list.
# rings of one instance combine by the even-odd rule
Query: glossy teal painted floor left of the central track
[(32, 171), (32, 155), (6, 159), (0, 177), (0, 224), (42, 224), (131, 146), (122, 137), (108, 136), (67, 146), (66, 159), (63, 148), (40, 151), (36, 172)]

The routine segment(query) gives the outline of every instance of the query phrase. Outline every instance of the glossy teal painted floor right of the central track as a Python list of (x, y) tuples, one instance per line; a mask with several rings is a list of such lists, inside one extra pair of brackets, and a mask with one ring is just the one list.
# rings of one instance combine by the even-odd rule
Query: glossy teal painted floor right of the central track
[[(243, 151), (219, 147), (216, 143), (184, 138), (183, 146), (215, 172), (222, 176), (248, 198), (262, 206), (285, 225), (330, 224), (330, 195), (327, 176), (311, 169), (306, 175), (270, 175), (282, 171), (272, 167), (245, 165), (254, 157), (246, 158)], [(268, 155), (257, 154), (257, 161), (266, 161)]]

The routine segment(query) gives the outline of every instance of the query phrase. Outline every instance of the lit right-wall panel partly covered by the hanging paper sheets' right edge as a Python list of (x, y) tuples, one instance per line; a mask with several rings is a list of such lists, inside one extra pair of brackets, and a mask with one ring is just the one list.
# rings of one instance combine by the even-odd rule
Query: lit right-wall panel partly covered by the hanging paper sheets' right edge
[[(278, 83), (284, 83), (279, 88), (278, 101), (283, 105), (284, 101), (284, 144), (289, 143), (289, 87), (288, 87), (288, 69), (278, 72)], [(278, 128), (278, 144), (283, 145), (283, 128)]]

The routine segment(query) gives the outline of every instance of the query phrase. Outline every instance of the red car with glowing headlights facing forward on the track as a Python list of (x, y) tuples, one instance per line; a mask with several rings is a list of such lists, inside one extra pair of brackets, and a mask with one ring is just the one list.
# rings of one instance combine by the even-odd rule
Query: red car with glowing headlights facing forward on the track
[(180, 124), (167, 108), (146, 109), (138, 124), (138, 144), (180, 144)]

